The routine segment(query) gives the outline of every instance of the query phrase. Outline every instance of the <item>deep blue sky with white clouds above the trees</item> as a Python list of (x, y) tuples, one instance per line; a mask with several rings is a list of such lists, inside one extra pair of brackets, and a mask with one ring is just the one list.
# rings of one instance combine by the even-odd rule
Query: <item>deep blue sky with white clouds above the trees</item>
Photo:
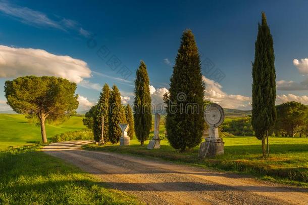
[(97, 101), (105, 83), (116, 84), (123, 103), (130, 103), (140, 60), (147, 65), (152, 97), (160, 101), (187, 28), (202, 55), (206, 97), (250, 109), (262, 11), (274, 38), (277, 103), (308, 104), (306, 8), (306, 1), (0, 1), (0, 110), (9, 109), (5, 80), (25, 74), (75, 81), (80, 110)]

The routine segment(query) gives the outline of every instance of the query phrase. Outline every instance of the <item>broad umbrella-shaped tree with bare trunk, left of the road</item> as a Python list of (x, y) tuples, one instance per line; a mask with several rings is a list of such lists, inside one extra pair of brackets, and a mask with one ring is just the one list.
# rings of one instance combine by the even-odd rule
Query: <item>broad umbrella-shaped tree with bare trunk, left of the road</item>
[(76, 87), (61, 77), (24, 76), (6, 81), (5, 96), (15, 112), (37, 116), (42, 142), (47, 143), (45, 120), (64, 120), (76, 113)]

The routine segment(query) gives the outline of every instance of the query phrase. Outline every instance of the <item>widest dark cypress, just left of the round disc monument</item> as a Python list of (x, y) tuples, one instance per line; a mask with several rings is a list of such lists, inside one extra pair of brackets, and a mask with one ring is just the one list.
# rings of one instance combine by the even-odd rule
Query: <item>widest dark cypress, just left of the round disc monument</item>
[(170, 78), (169, 95), (164, 96), (167, 138), (175, 149), (185, 151), (201, 142), (204, 87), (194, 36), (191, 30), (185, 30)]

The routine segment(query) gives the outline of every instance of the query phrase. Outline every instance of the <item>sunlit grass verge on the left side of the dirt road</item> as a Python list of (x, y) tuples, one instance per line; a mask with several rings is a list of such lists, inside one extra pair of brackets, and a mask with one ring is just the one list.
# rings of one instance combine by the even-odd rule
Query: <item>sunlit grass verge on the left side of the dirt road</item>
[(38, 146), (0, 152), (0, 204), (138, 203)]

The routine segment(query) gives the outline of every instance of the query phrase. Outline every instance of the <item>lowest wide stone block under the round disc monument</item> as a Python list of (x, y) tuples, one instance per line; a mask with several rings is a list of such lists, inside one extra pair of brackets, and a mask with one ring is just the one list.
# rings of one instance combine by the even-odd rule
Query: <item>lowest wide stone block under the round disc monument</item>
[[(209, 145), (210, 143), (210, 145)], [(206, 154), (207, 157), (214, 157), (224, 153), (224, 142), (222, 138), (212, 138), (211, 141), (206, 138), (205, 142), (201, 142), (199, 149), (199, 158), (203, 158)], [(209, 146), (209, 149), (208, 149)], [(206, 153), (208, 149), (208, 152)]]

